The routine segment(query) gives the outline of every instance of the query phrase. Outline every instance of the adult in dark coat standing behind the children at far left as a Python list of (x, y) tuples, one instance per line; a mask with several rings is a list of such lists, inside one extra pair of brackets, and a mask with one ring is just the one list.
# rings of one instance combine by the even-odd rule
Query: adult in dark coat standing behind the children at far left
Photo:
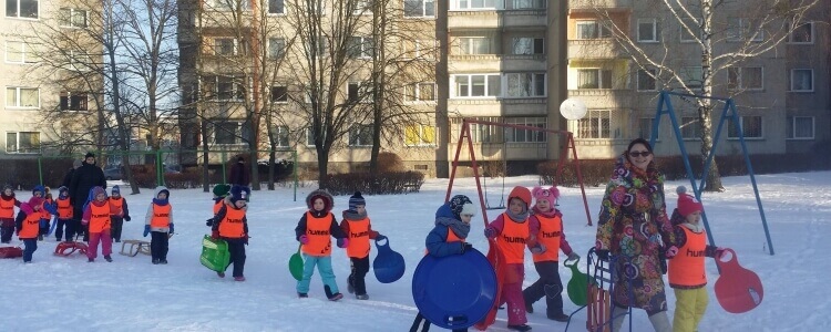
[(86, 153), (81, 167), (78, 167), (72, 173), (72, 180), (69, 186), (70, 199), (72, 199), (72, 208), (74, 210), (72, 222), (74, 222), (75, 229), (79, 232), (84, 234), (84, 241), (90, 240), (90, 235), (81, 227), (81, 217), (83, 216), (83, 207), (86, 204), (86, 198), (90, 196), (90, 189), (95, 186), (106, 188), (106, 178), (104, 177), (104, 170), (95, 166), (95, 155)]

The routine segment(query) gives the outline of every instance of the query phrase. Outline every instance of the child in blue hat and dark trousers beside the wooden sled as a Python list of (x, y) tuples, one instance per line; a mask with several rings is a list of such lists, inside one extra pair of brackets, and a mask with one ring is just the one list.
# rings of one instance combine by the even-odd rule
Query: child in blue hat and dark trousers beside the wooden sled
[[(173, 234), (173, 206), (168, 200), (171, 191), (164, 186), (156, 187), (156, 195), (144, 216), (144, 237), (152, 234), (150, 253), (153, 264), (167, 263), (167, 239)], [(126, 205), (125, 205), (126, 206)], [(126, 212), (126, 209), (124, 210)]]

